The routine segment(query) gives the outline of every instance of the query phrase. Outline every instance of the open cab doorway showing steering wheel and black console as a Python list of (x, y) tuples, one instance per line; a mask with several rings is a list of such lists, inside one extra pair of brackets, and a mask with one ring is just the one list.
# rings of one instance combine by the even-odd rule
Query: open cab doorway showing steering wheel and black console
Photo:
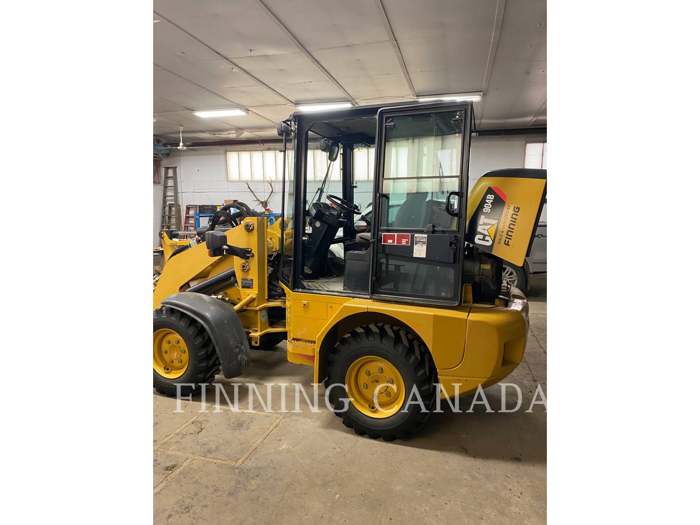
[[(377, 119), (372, 114), (318, 120), (309, 125), (304, 137), (297, 134), (296, 140), (305, 139), (307, 146), (303, 156), (306, 176), (300, 181), (304, 195), (300, 210), (303, 265), (297, 270), (300, 290), (369, 294), (371, 223), (363, 210), (371, 211), (376, 127)], [(285, 204), (285, 215), (293, 216), (291, 195)], [(293, 228), (292, 222), (286, 228)], [(358, 260), (360, 271), (356, 269)], [(351, 270), (349, 276), (347, 267)]]

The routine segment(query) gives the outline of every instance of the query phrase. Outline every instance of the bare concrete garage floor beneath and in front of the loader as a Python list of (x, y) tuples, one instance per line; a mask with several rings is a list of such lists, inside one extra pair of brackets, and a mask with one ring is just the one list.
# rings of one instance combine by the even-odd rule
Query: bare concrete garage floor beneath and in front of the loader
[[(193, 396), (174, 413), (176, 401), (154, 391), (154, 523), (545, 523), (547, 415), (541, 405), (526, 410), (538, 383), (547, 393), (546, 290), (546, 276), (534, 276), (525, 358), (505, 379), (521, 387), (519, 411), (475, 405), (471, 414), (431, 414), (409, 441), (360, 437), (323, 398), (321, 413), (266, 414), (232, 412), (223, 399), (223, 412), (198, 412), (201, 398)], [(261, 392), (266, 381), (312, 381), (311, 367), (287, 362), (284, 343), (251, 354), (248, 373), (234, 381)], [(486, 398), (500, 409), (499, 386), (486, 388)], [(293, 391), (285, 399), (292, 409)], [(507, 390), (508, 407), (515, 399)], [(471, 400), (461, 400), (463, 409)], [(213, 405), (213, 392), (205, 402)], [(244, 390), (239, 405), (248, 407)], [(262, 409), (257, 399), (253, 409)]]

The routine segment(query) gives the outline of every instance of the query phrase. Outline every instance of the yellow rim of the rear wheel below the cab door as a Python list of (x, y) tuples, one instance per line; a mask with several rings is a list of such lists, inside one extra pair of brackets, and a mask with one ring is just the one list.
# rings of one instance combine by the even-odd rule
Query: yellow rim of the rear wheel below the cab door
[(377, 356), (360, 357), (352, 363), (345, 374), (345, 386), (353, 407), (379, 419), (398, 412), (406, 397), (399, 371), (388, 360)]

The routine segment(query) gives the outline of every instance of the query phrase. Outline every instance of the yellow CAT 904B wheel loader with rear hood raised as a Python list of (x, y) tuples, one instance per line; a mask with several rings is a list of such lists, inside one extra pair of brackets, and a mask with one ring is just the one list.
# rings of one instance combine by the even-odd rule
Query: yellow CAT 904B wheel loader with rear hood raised
[[(153, 290), (156, 391), (193, 393), (286, 340), (346, 426), (406, 438), (437, 395), (473, 393), (520, 363), (522, 265), (546, 172), (484, 174), (468, 197), (472, 104), (294, 113), (278, 124), (281, 218), (224, 206), (194, 240), (161, 232)], [(373, 166), (370, 164), (374, 155)], [(360, 206), (372, 205), (371, 220)], [(331, 246), (335, 248), (331, 250)], [(342, 257), (337, 255), (342, 253)]]

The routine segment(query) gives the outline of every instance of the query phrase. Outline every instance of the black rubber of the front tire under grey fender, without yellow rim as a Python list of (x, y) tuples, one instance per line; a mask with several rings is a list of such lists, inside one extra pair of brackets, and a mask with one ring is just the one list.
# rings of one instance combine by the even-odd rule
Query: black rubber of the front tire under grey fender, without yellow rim
[(182, 336), (190, 352), (190, 361), (185, 373), (177, 379), (168, 379), (153, 370), (153, 387), (156, 392), (172, 398), (177, 394), (176, 384), (194, 383), (194, 387), (183, 385), (180, 388), (181, 397), (188, 397), (201, 390), (200, 384), (214, 381), (221, 365), (214, 343), (204, 326), (182, 311), (162, 306), (153, 311), (153, 332), (160, 328), (171, 328)]

